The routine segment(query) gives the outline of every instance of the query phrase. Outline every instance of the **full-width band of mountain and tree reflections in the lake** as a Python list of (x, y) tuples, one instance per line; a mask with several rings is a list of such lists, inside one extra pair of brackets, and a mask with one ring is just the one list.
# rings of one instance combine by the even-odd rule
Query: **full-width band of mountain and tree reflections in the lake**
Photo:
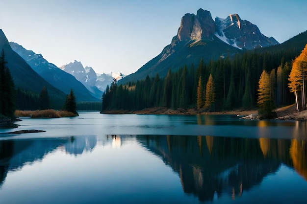
[(201, 202), (244, 196), (268, 175), (276, 174), (281, 165), (294, 169), (307, 181), (307, 139), (71, 136), (0, 141), (0, 186), (9, 171), (40, 162), (55, 150), (82, 156), (95, 148), (118, 149), (131, 142), (162, 159), (179, 175), (183, 192)]

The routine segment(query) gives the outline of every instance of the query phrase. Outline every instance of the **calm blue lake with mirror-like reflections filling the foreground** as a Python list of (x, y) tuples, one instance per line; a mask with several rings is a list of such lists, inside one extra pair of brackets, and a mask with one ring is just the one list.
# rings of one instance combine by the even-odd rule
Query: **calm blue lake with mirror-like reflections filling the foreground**
[[(307, 123), (80, 112), (0, 129), (2, 204), (306, 204)], [(46, 133), (6, 134), (16, 130)]]

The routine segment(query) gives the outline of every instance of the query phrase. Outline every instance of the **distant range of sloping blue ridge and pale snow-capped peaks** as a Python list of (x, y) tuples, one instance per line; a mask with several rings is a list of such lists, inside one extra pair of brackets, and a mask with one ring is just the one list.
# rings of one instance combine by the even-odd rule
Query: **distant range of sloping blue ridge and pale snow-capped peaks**
[(58, 68), (44, 59), (42, 54), (36, 54), (14, 42), (10, 42), (9, 45), (35, 72), (55, 88), (66, 94), (73, 89), (77, 101), (101, 100), (102, 92), (112, 83), (113, 77), (117, 80), (125, 77), (121, 73), (96, 74), (93, 68), (83, 68), (83, 65), (77, 61)]

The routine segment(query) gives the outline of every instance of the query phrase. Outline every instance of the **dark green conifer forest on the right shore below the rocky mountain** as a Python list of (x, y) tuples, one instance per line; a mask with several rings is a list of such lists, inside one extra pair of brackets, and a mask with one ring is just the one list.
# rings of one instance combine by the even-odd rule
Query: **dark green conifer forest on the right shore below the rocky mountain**
[[(177, 72), (169, 70), (164, 78), (147, 76), (125, 85), (113, 81), (102, 95), (102, 111), (151, 107), (203, 111), (253, 108), (257, 106), (257, 90), (263, 70), (274, 78), (274, 105), (288, 105), (294, 103), (294, 94), (288, 88), (292, 60), (305, 45), (298, 39), (292, 43), (289, 40), (278, 46), (246, 51), (208, 63), (200, 59), (196, 66), (185, 65)], [(213, 81), (209, 80), (210, 75)], [(206, 104), (208, 100), (210, 102)]]

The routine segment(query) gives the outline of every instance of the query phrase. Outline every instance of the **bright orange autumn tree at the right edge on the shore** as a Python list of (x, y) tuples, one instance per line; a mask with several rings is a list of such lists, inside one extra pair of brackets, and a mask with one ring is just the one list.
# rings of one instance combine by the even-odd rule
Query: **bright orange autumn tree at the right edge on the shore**
[(302, 53), (294, 59), (289, 75), (289, 88), (295, 94), (297, 111), (306, 109), (306, 81), (307, 81), (307, 45)]

